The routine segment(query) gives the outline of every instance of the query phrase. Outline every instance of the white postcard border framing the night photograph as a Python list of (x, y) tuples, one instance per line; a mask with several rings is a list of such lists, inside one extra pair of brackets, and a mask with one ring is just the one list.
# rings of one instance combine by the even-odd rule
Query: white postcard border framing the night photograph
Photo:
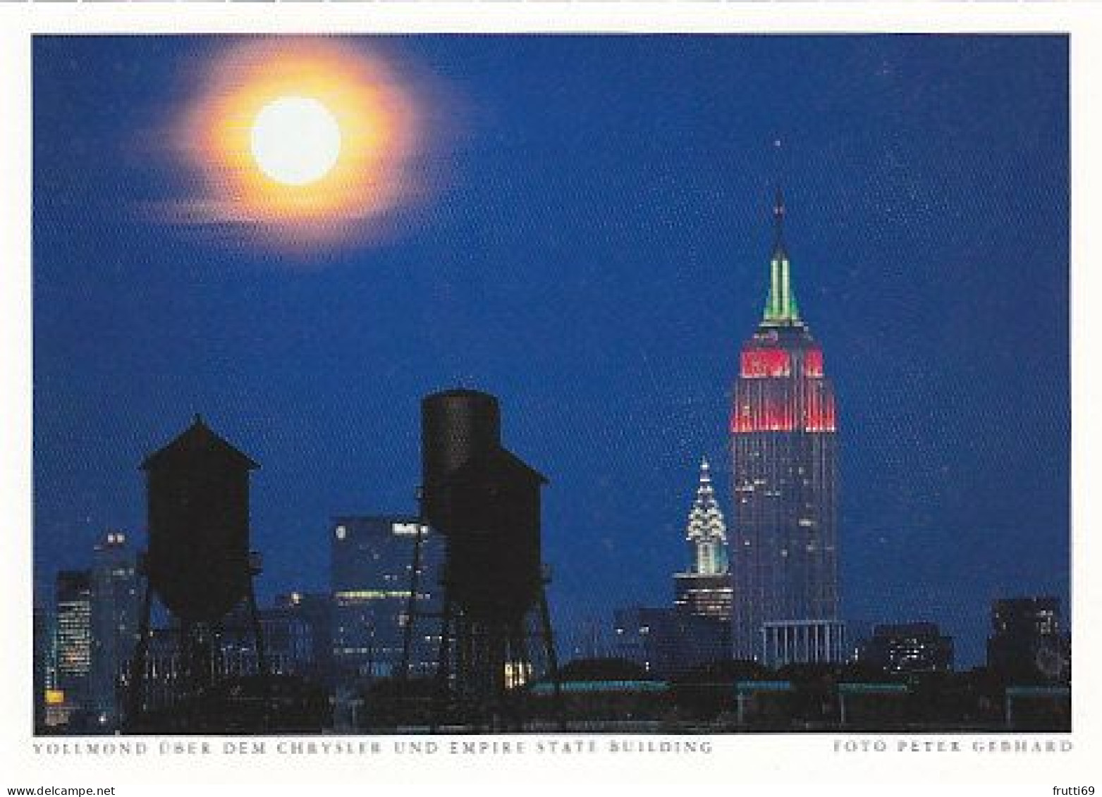
[[(735, 735), (713, 736), (706, 756), (602, 754), (564, 756), (316, 757), (159, 756), (137, 760), (35, 755), (31, 721), (31, 47), (33, 33), (186, 33), (186, 32), (1070, 32), (1072, 102), (1072, 614), (1076, 681), (1074, 750), (1057, 755), (866, 753), (839, 755), (835, 739), (862, 736)], [(75, 4), (0, 2), (0, 518), (7, 532), (0, 556), (0, 627), (7, 634), (0, 655), (0, 788), (8, 786), (109, 786), (117, 794), (141, 794), (138, 784), (204, 784), (204, 790), (229, 794), (246, 785), (292, 793), (310, 784), (369, 789), (379, 783), (493, 783), (510, 790), (549, 784), (647, 783), (669, 785), (712, 782), (737, 784), (809, 784), (801, 790), (878, 794), (876, 784), (894, 793), (946, 784), (998, 787), (1000, 794), (1048, 794), (1054, 786), (1102, 789), (1096, 765), (1102, 735), (1099, 678), (1098, 607), (1102, 589), (1089, 578), (1100, 564), (1092, 532), (1099, 504), (1091, 500), (1091, 445), (1100, 441), (1100, 413), (1092, 412), (1098, 381), (1091, 373), (1099, 325), (1089, 312), (1100, 295), (1102, 244), (1091, 240), (1098, 226), (1100, 157), (1089, 142), (1102, 141), (1098, 110), (1102, 86), (1102, 7), (1089, 0), (1069, 2), (370, 2), (370, 3), (142, 3)], [(1091, 109), (1092, 99), (1095, 109)], [(1093, 225), (1092, 225), (1093, 221)], [(1016, 323), (1016, 319), (1007, 319)], [(917, 741), (1000, 736), (915, 736)], [(1005, 738), (1005, 736), (1004, 736)], [(1040, 739), (1040, 736), (1030, 736)], [(487, 738), (484, 738), (487, 739)], [(889, 745), (897, 738), (884, 739)], [(42, 741), (42, 740), (39, 740)], [(436, 739), (446, 743), (446, 739)], [(220, 739), (213, 740), (215, 746)], [(1092, 782), (1092, 774), (1094, 780)], [(534, 782), (534, 783), (533, 783)], [(210, 784), (234, 785), (212, 789)], [(909, 786), (909, 787), (908, 787)], [(993, 790), (984, 788), (982, 789)], [(561, 791), (561, 789), (560, 789)], [(781, 793), (788, 793), (781, 789)]]

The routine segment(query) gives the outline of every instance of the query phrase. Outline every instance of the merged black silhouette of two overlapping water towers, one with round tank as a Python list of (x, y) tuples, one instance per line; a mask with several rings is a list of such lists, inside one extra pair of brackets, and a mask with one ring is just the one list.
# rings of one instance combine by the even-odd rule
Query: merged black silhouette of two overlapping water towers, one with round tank
[(447, 548), (436, 714), (490, 729), (519, 728), (537, 667), (559, 685), (540, 554), (547, 479), (501, 446), (500, 429), (487, 393), (421, 403), (422, 512)]

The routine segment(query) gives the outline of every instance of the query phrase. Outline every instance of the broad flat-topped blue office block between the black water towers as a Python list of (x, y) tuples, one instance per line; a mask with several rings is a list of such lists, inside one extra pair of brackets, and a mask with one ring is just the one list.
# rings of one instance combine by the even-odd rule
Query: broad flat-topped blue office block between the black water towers
[[(413, 554), (421, 522), (411, 515), (344, 515), (329, 528), (333, 662), (342, 681), (397, 675), (403, 664)], [(414, 611), (440, 613), (440, 535), (420, 529)], [(410, 672), (435, 672), (439, 629), (419, 624)]]

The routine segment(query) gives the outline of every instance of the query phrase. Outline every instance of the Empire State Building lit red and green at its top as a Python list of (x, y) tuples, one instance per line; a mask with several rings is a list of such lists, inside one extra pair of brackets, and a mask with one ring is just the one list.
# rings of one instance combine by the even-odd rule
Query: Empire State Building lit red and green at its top
[(778, 193), (769, 295), (739, 359), (734, 459), (734, 653), (771, 667), (840, 662), (838, 444), (822, 348), (800, 318)]

